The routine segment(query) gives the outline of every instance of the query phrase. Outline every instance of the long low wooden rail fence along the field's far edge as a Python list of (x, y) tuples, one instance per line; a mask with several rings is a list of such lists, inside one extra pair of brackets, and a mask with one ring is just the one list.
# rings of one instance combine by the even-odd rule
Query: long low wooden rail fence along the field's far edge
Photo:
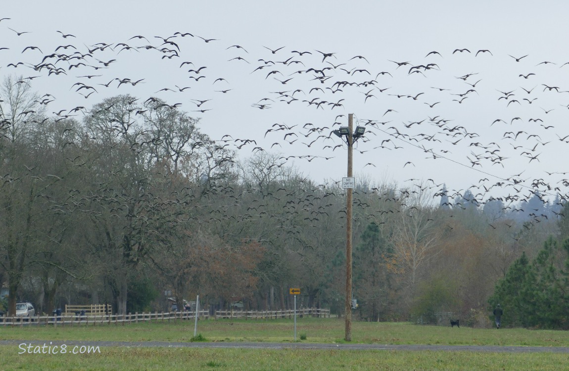
[[(197, 312), (198, 318), (209, 319), (209, 311)], [(329, 309), (303, 308), (296, 310), (297, 316), (312, 316), (330, 318)], [(215, 318), (245, 318), (245, 319), (277, 319), (292, 318), (294, 310), (278, 311), (216, 311)], [(146, 321), (175, 321), (195, 319), (195, 311), (187, 312), (162, 312), (162, 313), (134, 313), (134, 314), (85, 314), (76, 315), (63, 313), (60, 316), (34, 316), (34, 317), (0, 317), (0, 327), (26, 327), (28, 325), (53, 325), (56, 326), (88, 326), (88, 325), (124, 325), (125, 323), (139, 323)]]

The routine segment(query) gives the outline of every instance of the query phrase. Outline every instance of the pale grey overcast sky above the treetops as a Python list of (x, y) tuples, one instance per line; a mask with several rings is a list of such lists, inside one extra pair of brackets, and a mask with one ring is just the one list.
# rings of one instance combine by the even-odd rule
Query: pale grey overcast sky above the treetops
[[(504, 179), (523, 180), (516, 188), (508, 182), (494, 187), (488, 195), (496, 196), (517, 190), (527, 195), (534, 180), (544, 179), (551, 189), (540, 189), (566, 195), (563, 179), (569, 177), (548, 172), (569, 171), (568, 143), (560, 141), (569, 135), (567, 14), (565, 1), (5, 2), (0, 18), (10, 19), (0, 22), (0, 48), (9, 50), (0, 50), (0, 76), (40, 76), (32, 87), (56, 96), (48, 112), (89, 108), (123, 93), (181, 103), (180, 109), (201, 118), (201, 130), (212, 139), (228, 134), (257, 141), (242, 147), (240, 156), (250, 156), (256, 146), (305, 156), (288, 163), (317, 181), (345, 176), (346, 147), (334, 149), (340, 139), (326, 137), (353, 113), (368, 130), (355, 147), (356, 176), (400, 185), (432, 179), (455, 190), (477, 184), (483, 193)], [(193, 37), (170, 38), (175, 32)], [(146, 40), (131, 39), (135, 35)], [(96, 43), (112, 47), (86, 57), (86, 66), (69, 70), (80, 60), (60, 61), (56, 66), (67, 75), (8, 66), (38, 64), (69, 44), (85, 53)], [(176, 53), (143, 48), (150, 45), (179, 52), (170, 57)], [(27, 46), (41, 52), (23, 51)], [(469, 52), (456, 51), (462, 49)], [(89, 67), (112, 59), (109, 68)], [(180, 68), (183, 61), (193, 64)], [(430, 63), (430, 69), (410, 69)], [(200, 67), (206, 68), (188, 72)], [(323, 68), (329, 69), (318, 72)], [(78, 77), (89, 75), (102, 76)], [(144, 80), (97, 85), (116, 78)], [(71, 88), (77, 81), (97, 92), (84, 98), (79, 93), (86, 90)], [(176, 85), (189, 89), (180, 92)], [(198, 107), (196, 100), (209, 101)], [(267, 133), (275, 123), (296, 126)], [(315, 127), (325, 129), (309, 131)], [(284, 138), (287, 133), (294, 134)]]

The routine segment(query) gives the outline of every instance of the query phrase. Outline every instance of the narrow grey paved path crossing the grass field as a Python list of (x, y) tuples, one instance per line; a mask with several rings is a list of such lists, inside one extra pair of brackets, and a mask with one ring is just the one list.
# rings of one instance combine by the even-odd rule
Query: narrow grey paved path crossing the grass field
[(50, 341), (50, 340), (0, 340), (0, 345), (90, 345), (93, 347), (164, 347), (164, 348), (238, 348), (238, 349), (356, 349), (379, 351), (468, 351), (498, 353), (569, 353), (569, 347), (501, 347), (495, 345), (388, 345), (388, 344), (321, 344), (321, 343), (253, 343), (253, 342), (204, 342), (177, 343), (170, 341)]

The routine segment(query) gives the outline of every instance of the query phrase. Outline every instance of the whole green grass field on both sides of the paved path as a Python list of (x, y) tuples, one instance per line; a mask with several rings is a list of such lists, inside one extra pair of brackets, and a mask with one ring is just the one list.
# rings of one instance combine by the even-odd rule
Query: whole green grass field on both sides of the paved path
[[(292, 320), (203, 320), (206, 341), (293, 341)], [(302, 343), (342, 343), (344, 321), (298, 319)], [(192, 321), (89, 327), (2, 328), (1, 340), (191, 341)], [(352, 343), (569, 347), (569, 332), (354, 322)], [(559, 353), (102, 347), (94, 354), (18, 354), (0, 346), (0, 370), (569, 370)]]

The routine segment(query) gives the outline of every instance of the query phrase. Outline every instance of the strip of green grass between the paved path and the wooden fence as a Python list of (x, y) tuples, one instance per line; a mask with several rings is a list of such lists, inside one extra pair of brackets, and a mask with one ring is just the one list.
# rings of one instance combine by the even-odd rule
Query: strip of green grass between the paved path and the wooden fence
[[(89, 325), (70, 327), (34, 325), (3, 328), (0, 340), (104, 340), (104, 341), (192, 341), (193, 321)], [(198, 332), (206, 341), (294, 341), (294, 323), (278, 320), (200, 320)], [(343, 343), (341, 319), (300, 318), (297, 332), (303, 343)], [(352, 343), (430, 345), (530, 345), (569, 347), (569, 332), (522, 328), (477, 329), (426, 326), (411, 323), (353, 322)]]

